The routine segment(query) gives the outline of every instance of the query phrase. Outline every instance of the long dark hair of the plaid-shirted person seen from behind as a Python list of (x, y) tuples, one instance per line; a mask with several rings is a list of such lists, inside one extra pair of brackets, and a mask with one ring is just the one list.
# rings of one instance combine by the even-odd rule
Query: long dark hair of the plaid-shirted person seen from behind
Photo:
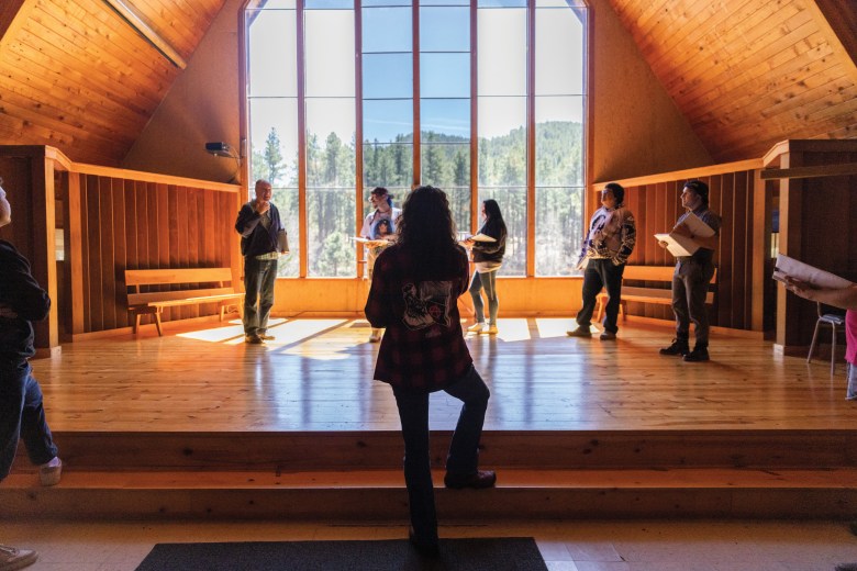
[(397, 244), (415, 261), (418, 280), (446, 278), (456, 271), (463, 251), (443, 190), (425, 186), (408, 193), (397, 226)]

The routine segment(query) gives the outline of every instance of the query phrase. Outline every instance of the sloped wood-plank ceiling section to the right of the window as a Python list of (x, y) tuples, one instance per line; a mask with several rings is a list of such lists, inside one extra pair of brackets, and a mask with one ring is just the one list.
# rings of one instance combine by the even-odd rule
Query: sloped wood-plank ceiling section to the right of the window
[(857, 137), (857, 2), (609, 2), (715, 160)]

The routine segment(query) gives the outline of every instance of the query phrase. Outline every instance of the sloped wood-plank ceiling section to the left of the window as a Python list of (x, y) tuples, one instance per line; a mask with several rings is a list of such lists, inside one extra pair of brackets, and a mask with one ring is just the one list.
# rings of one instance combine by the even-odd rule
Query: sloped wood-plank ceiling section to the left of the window
[[(189, 59), (224, 0), (125, 0)], [(118, 166), (180, 70), (101, 0), (2, 0), (0, 144)]]

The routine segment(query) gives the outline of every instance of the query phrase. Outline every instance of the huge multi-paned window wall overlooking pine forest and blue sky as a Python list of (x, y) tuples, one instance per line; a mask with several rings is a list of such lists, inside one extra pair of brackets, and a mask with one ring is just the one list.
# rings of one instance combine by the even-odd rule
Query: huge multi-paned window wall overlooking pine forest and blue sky
[(290, 234), (280, 275), (358, 276), (369, 191), (401, 203), (418, 184), (447, 192), (463, 233), (498, 201), (502, 276), (570, 275), (586, 14), (580, 0), (248, 2), (248, 157)]

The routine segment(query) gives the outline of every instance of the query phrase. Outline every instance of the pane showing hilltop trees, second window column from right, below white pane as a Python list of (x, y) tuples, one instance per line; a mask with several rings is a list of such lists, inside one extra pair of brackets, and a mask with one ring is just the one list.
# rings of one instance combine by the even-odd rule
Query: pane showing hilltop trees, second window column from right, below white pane
[(479, 98), (479, 184), (526, 184), (526, 98)]

